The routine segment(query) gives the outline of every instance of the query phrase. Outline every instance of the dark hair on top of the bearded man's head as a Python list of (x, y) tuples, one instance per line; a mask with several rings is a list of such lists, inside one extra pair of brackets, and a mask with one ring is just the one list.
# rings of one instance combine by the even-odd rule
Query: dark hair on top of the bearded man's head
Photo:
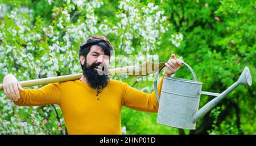
[(111, 55), (113, 54), (114, 48), (106, 37), (99, 35), (89, 36), (84, 42), (81, 43), (79, 48), (79, 56), (84, 56), (85, 61), (86, 56), (90, 52), (90, 47), (92, 47), (92, 45), (97, 45), (98, 47), (101, 47), (104, 51), (104, 54), (108, 55), (109, 57), (111, 57)]

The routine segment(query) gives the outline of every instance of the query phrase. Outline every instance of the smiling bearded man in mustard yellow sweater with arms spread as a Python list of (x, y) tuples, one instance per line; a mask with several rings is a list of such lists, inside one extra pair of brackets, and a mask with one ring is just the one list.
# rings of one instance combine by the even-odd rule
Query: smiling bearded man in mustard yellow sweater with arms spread
[[(155, 91), (144, 93), (128, 84), (100, 74), (109, 67), (113, 46), (104, 36), (90, 36), (81, 43), (79, 80), (56, 82), (39, 89), (25, 89), (13, 74), (3, 79), (6, 96), (18, 106), (59, 105), (68, 134), (122, 134), (121, 109), (157, 112)], [(171, 76), (183, 64), (171, 55), (163, 76)], [(103, 65), (103, 66), (102, 66)], [(100, 67), (99, 67), (100, 66)], [(163, 77), (158, 85), (162, 88)]]

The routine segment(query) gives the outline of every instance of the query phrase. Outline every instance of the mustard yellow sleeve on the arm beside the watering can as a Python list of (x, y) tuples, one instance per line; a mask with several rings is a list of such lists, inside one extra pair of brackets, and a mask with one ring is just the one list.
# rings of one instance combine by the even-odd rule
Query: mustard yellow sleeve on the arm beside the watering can
[[(163, 76), (158, 84), (158, 95), (162, 89)], [(122, 97), (122, 105), (130, 107), (134, 110), (158, 112), (159, 103), (156, 99), (155, 91), (152, 93), (144, 93), (138, 89), (129, 86), (127, 83), (124, 85)]]

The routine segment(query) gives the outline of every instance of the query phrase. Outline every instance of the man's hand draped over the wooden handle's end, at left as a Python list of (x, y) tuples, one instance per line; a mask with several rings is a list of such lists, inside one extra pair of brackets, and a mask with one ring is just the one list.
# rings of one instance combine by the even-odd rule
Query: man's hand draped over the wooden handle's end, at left
[(6, 96), (12, 101), (18, 101), (19, 90), (24, 91), (13, 74), (7, 74), (3, 78), (3, 90), (5, 90)]

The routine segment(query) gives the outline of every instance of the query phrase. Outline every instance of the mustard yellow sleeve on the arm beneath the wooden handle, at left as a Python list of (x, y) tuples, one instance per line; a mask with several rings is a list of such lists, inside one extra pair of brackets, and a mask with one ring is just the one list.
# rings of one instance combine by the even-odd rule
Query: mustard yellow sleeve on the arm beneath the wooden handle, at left
[[(24, 88), (23, 88), (24, 89)], [(18, 106), (59, 105), (61, 100), (60, 83), (48, 84), (39, 89), (19, 91), (20, 98), (14, 102)]]

